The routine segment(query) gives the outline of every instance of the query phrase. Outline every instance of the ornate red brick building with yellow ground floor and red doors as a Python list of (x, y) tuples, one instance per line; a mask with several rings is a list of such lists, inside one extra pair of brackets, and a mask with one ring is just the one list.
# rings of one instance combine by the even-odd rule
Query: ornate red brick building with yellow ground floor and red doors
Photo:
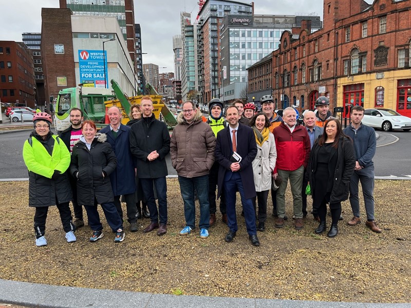
[[(278, 108), (385, 107), (411, 115), (411, 1), (324, 2), (323, 29), (284, 31), (273, 51), (272, 94)], [(251, 71), (249, 71), (249, 75)], [(249, 82), (250, 89), (251, 84)], [(408, 102), (408, 103), (406, 103)]]

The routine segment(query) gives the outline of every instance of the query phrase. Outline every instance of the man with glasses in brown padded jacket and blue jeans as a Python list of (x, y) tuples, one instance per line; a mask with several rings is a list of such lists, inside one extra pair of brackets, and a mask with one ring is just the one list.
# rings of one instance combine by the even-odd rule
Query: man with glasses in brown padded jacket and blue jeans
[(200, 203), (200, 237), (209, 236), (209, 171), (214, 163), (215, 136), (211, 126), (202, 121), (195, 104), (187, 101), (177, 117), (170, 143), (171, 162), (178, 174), (184, 201), (186, 226), (180, 235), (195, 228), (194, 189)]

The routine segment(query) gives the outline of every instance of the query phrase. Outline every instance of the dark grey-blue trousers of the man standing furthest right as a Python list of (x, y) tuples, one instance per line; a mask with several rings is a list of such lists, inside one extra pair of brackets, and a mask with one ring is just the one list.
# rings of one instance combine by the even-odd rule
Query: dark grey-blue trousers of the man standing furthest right
[(374, 220), (374, 165), (354, 171), (350, 180), (350, 204), (352, 214), (360, 217), (360, 200), (358, 199), (358, 182), (363, 190), (367, 220)]

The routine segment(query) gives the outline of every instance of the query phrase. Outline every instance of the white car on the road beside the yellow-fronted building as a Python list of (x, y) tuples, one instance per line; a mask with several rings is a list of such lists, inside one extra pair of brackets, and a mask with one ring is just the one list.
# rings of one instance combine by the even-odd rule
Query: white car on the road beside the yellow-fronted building
[(385, 108), (372, 108), (364, 110), (362, 123), (384, 131), (393, 129), (411, 130), (411, 118), (404, 117), (397, 111)]

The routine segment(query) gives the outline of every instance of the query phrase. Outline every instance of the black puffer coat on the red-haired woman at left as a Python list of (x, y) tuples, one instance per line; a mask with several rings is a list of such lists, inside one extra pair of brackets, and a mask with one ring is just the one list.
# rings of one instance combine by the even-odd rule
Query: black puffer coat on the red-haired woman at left
[(114, 201), (108, 176), (116, 169), (117, 158), (111, 145), (105, 142), (106, 135), (97, 133), (96, 136), (90, 150), (80, 140), (71, 153), (70, 173), (78, 179), (77, 200), (81, 205), (94, 205), (94, 198), (99, 204)]

